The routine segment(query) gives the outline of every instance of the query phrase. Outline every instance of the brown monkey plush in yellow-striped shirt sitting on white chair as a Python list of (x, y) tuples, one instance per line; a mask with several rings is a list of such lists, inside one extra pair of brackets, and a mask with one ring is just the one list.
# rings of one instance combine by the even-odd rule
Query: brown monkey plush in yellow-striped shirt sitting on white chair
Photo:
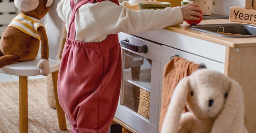
[(41, 60), (38, 68), (44, 76), (49, 74), (49, 46), (46, 31), (40, 19), (47, 14), (53, 0), (14, 0), (21, 10), (0, 40), (0, 68), (17, 61), (34, 60), (41, 42)]

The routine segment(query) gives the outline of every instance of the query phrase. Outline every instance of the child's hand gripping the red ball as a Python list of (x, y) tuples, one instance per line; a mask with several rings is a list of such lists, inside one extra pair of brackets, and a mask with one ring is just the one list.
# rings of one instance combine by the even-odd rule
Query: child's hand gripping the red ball
[(186, 4), (180, 7), (183, 15), (183, 20), (200, 20), (203, 12), (197, 4)]

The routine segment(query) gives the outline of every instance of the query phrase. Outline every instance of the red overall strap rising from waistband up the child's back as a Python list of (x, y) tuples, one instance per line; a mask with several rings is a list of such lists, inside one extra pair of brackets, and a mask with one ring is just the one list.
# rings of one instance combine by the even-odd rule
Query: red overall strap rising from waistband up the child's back
[(75, 39), (75, 36), (76, 36), (75, 15), (76, 15), (76, 12), (82, 5), (84, 5), (88, 2), (90, 2), (90, 0), (80, 0), (76, 4), (75, 4), (74, 0), (70, 1), (72, 14), (71, 14), (71, 18), (70, 18), (68, 38)]

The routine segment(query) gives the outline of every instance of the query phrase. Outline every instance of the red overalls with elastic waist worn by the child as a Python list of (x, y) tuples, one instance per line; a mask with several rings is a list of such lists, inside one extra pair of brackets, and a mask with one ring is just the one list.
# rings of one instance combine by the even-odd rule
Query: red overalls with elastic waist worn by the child
[(62, 54), (58, 96), (72, 125), (71, 133), (107, 133), (119, 101), (121, 49), (117, 34), (102, 42), (75, 40), (75, 13), (88, 2), (92, 1), (75, 4), (71, 0), (73, 12)]

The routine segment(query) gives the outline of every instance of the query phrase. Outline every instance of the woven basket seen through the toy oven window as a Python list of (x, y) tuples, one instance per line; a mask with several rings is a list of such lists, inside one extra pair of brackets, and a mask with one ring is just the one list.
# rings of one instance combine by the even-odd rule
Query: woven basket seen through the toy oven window
[(150, 92), (140, 88), (138, 114), (149, 119)]

